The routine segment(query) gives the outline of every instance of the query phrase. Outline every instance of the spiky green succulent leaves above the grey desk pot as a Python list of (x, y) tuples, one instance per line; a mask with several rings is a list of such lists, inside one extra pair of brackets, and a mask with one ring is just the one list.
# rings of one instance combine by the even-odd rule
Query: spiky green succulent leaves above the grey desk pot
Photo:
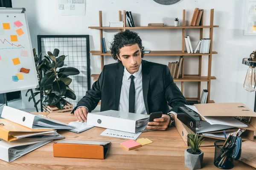
[(193, 132), (191, 131), (190, 134), (187, 135), (187, 140), (188, 143), (192, 149), (192, 154), (195, 154), (198, 152), (199, 147), (201, 146), (201, 144), (204, 142), (203, 139), (204, 136), (198, 136), (198, 133), (193, 134)]

